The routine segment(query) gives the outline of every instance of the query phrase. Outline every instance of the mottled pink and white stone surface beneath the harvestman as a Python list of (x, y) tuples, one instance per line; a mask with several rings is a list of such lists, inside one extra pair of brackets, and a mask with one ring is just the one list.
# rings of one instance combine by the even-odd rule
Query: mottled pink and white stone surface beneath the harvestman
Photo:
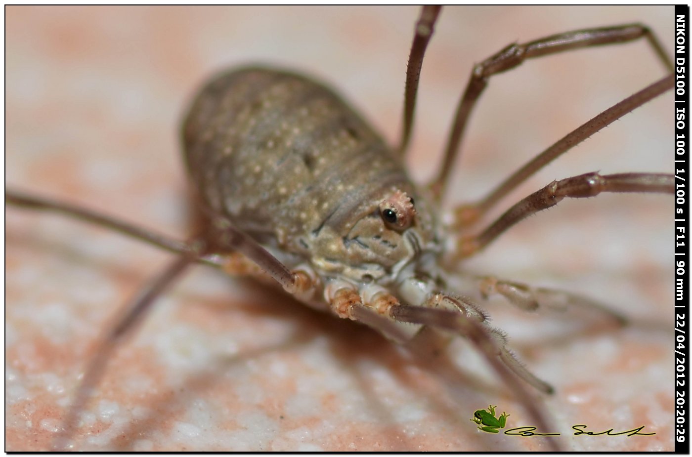
[[(188, 230), (178, 124), (213, 71), (268, 62), (309, 72), (390, 142), (417, 8), (6, 9), (6, 182), (174, 236)], [(673, 8), (447, 8), (419, 91), (409, 163), (437, 164), (475, 62), (511, 41), (641, 21), (673, 52)], [(665, 74), (637, 42), (527, 62), (491, 80), (469, 125), (451, 202), (481, 196), (538, 151)], [(670, 93), (615, 122), (500, 205), (587, 171), (670, 172)], [(526, 315), (487, 305), (556, 394), (545, 409), (579, 451), (673, 449), (673, 200), (565, 201), (464, 270), (581, 292), (632, 318)], [(104, 324), (167, 261), (118, 234), (6, 209), (6, 449), (50, 447)], [(351, 322), (198, 267), (111, 360), (82, 414), (80, 450), (541, 450), (469, 421), (525, 412), (464, 342), (448, 380)], [(498, 412), (499, 412), (498, 411)], [(571, 436), (570, 427), (653, 436)]]

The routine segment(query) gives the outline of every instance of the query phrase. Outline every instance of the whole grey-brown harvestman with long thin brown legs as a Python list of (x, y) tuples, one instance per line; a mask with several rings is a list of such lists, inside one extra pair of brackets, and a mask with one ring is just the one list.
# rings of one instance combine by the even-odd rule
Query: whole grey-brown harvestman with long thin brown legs
[[(485, 355), (539, 428), (549, 429), (534, 396), (515, 379), (520, 377), (544, 393), (552, 392), (552, 387), (516, 361), (505, 348), (507, 338), (488, 326), (487, 315), (481, 308), (466, 297), (445, 291), (444, 278), (460, 259), (482, 250), (518, 221), (556, 205), (562, 198), (590, 197), (601, 192), (672, 194), (673, 176), (589, 173), (554, 181), (520, 200), (484, 230), (460, 236), (448, 255), (444, 255), (445, 243), (450, 239), (445, 236), (446, 230), (453, 234), (462, 227), (473, 227), (500, 198), (548, 162), (672, 88), (673, 76), (647, 86), (572, 131), (479, 202), (456, 207), (450, 227), (442, 227), (439, 212), (431, 209), (441, 205), (466, 121), (492, 75), (518, 66), (525, 59), (639, 38), (648, 40), (668, 69), (672, 70), (672, 64), (650, 30), (637, 24), (577, 30), (507, 46), (473, 68), (457, 107), (439, 174), (421, 189), (408, 182), (401, 162), (412, 131), (424, 51), (438, 14), (438, 7), (424, 7), (416, 26), (406, 77), (403, 133), (393, 151), (386, 149), (370, 127), (336, 95), (300, 75), (243, 68), (210, 82), (197, 97), (183, 126), (188, 171), (207, 219), (203, 230), (187, 242), (168, 239), (86, 209), (6, 189), (9, 204), (69, 214), (179, 254), (104, 337), (100, 350), (87, 365), (57, 447), (63, 447), (71, 438), (89, 391), (98, 384), (122, 337), (192, 263), (212, 265), (230, 274), (268, 274), (301, 301), (331, 310), (339, 317), (361, 321), (397, 342), (417, 338), (426, 343), (421, 346), (444, 344), (446, 338), (441, 337), (441, 332), (430, 328), (463, 335)], [(295, 96), (296, 93), (301, 96)], [(253, 135), (248, 136), (248, 132)], [(305, 142), (306, 138), (312, 141)], [(327, 148), (327, 144), (332, 148)], [(313, 153), (313, 149), (320, 153)], [(295, 184), (298, 187), (292, 189), (281, 187), (278, 183), (284, 181), (278, 179), (280, 171), (257, 168), (258, 158), (277, 167), (284, 161), (302, 163), (301, 169), (295, 168), (295, 176), (281, 176), (300, 185)], [(354, 163), (353, 181), (341, 183), (339, 180), (349, 176), (346, 171), (351, 171), (349, 166)], [(313, 178), (307, 181), (308, 186), (302, 185), (306, 182), (302, 176), (305, 173)], [(261, 185), (263, 181), (277, 185), (268, 188)], [(343, 189), (339, 188), (339, 192), (325, 192), (340, 185)], [(266, 190), (261, 196), (253, 192), (258, 187)], [(322, 194), (315, 196), (313, 187)], [(293, 198), (297, 193), (302, 200)], [(529, 288), (493, 277), (477, 280), (483, 295), (502, 295), (520, 308), (534, 309), (540, 301), (556, 297), (575, 306), (595, 306), (565, 292)], [(428, 330), (412, 335), (402, 330), (410, 326), (401, 327), (397, 322), (418, 324), (416, 330), (421, 326)], [(556, 442), (550, 444), (556, 447)]]

